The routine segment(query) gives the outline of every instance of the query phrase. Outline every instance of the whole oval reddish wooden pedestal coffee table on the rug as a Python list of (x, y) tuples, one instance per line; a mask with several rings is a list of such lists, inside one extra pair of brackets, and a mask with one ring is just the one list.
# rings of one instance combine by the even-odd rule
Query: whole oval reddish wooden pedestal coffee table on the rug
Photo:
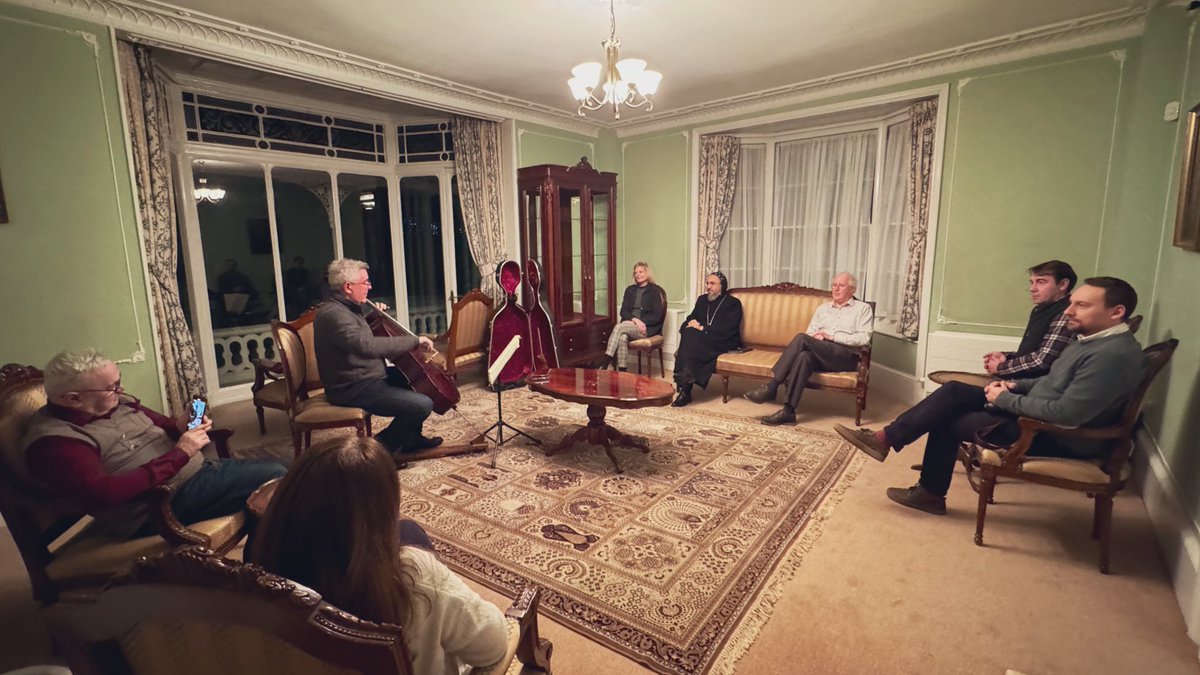
[(674, 387), (664, 380), (644, 375), (618, 372), (614, 370), (594, 370), (589, 368), (554, 368), (545, 382), (528, 381), (534, 392), (553, 396), (572, 404), (588, 406), (588, 425), (563, 438), (558, 447), (546, 452), (547, 456), (558, 454), (580, 441), (593, 446), (604, 446), (617, 473), (624, 473), (617, 455), (612, 454), (612, 444), (641, 448), (650, 452), (644, 438), (622, 434), (605, 422), (605, 412), (614, 408), (643, 408), (665, 406), (674, 396)]

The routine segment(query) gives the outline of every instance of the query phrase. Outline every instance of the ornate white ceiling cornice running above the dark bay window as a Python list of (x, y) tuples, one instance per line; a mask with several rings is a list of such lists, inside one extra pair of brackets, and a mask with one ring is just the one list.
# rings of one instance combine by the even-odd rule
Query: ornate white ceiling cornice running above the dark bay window
[(362, 91), (451, 113), (518, 119), (599, 136), (600, 125), (576, 114), (467, 86), (414, 70), (338, 52), (276, 32), (181, 10), (154, 0), (8, 0), (34, 10), (112, 26), (152, 47)]

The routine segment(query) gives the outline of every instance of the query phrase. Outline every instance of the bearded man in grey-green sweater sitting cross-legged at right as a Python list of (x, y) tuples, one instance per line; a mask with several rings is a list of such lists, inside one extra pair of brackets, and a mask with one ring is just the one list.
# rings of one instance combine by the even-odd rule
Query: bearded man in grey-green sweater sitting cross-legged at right
[[(1126, 324), (1136, 305), (1138, 293), (1129, 283), (1112, 276), (1088, 279), (1070, 294), (1070, 305), (1063, 311), (1075, 340), (1049, 374), (997, 381), (985, 388), (950, 382), (880, 431), (856, 431), (840, 424), (835, 429), (878, 461), (887, 459), (889, 449), (900, 452), (929, 434), (920, 480), (907, 489), (888, 488), (888, 497), (910, 508), (944, 514), (960, 442), (979, 434), (989, 442), (1009, 444), (1020, 435), (1018, 416), (1063, 426), (1116, 422), (1145, 368), (1141, 346)], [(1106, 452), (1103, 442), (1042, 434), (1028, 454), (1098, 458)]]

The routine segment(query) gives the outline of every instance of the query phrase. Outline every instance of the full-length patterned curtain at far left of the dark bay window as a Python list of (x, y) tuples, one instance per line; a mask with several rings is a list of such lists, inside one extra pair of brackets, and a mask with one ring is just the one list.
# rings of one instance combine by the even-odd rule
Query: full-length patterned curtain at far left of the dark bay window
[(119, 42), (118, 60), (125, 86), (125, 110), (133, 147), (133, 175), (137, 181), (138, 216), (145, 240), (150, 271), (150, 301), (154, 305), (162, 372), (167, 384), (167, 406), (181, 414), (193, 395), (206, 395), (200, 362), (192, 331), (179, 301), (175, 267), (179, 241), (175, 237), (175, 190), (170, 175), (170, 138), (167, 92), (155, 77), (150, 49)]

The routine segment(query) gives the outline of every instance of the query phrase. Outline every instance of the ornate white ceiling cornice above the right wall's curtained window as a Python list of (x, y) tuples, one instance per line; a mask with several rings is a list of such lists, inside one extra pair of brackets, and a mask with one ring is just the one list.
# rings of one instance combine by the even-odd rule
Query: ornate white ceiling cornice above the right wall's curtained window
[(641, 115), (636, 120), (608, 126), (616, 129), (618, 138), (626, 138), (682, 126), (710, 124), (739, 115), (762, 113), (809, 101), (868, 91), (892, 84), (940, 77), (1056, 52), (1116, 42), (1141, 35), (1146, 28), (1147, 13), (1150, 13), (1150, 4), (1127, 7), (841, 74)]

